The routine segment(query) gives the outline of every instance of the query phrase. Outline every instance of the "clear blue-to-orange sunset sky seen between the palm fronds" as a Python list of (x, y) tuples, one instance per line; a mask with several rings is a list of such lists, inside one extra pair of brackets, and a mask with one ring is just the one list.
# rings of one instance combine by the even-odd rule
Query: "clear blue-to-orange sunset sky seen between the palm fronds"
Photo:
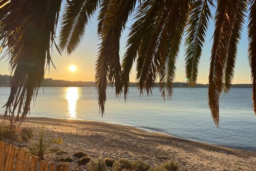
[[(213, 14), (215, 10), (212, 9)], [(132, 24), (132, 20), (127, 23), (129, 28)], [(199, 64), (198, 72), (198, 83), (207, 84), (208, 74), (209, 74), (209, 61), (210, 61), (210, 51), (212, 45), (212, 35), (214, 32), (214, 20), (210, 20), (208, 31), (205, 38), (205, 43), (203, 47), (203, 52)], [(121, 37), (120, 41), (120, 60), (125, 52), (125, 44), (127, 40), (127, 34), (129, 30), (126, 29)], [(183, 37), (184, 40), (185, 37)], [(95, 61), (98, 54), (98, 44), (100, 43), (97, 36), (97, 13), (91, 18), (89, 25), (86, 28), (86, 35), (84, 36), (82, 42), (71, 55), (60, 56), (57, 51), (52, 50), (52, 60), (57, 70), (53, 66), (50, 67), (50, 72), (46, 71), (45, 78), (61, 79), (68, 81), (94, 81), (95, 76)], [(251, 83), (250, 78), (250, 68), (248, 64), (247, 56), (247, 18), (244, 25), (242, 38), (238, 48), (238, 55), (236, 60), (236, 69), (234, 72), (233, 84), (238, 83)], [(75, 65), (77, 67), (76, 72), (71, 72), (69, 70), (70, 65)], [(136, 63), (134, 63), (136, 66)], [(185, 82), (185, 48), (184, 41), (181, 44), (179, 57), (176, 63), (176, 81)], [(7, 59), (2, 59), (0, 61), (0, 75), (9, 75), (8, 61)], [(130, 77), (130, 82), (135, 82), (136, 70), (133, 67)]]

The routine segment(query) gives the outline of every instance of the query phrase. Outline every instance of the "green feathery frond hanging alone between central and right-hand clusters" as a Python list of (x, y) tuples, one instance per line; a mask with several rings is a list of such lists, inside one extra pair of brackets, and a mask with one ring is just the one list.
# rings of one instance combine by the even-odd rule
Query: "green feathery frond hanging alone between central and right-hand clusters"
[(209, 19), (211, 1), (197, 0), (192, 5), (187, 22), (186, 46), (186, 78), (190, 86), (195, 86), (198, 75), (198, 65), (202, 54), (202, 47), (205, 40)]

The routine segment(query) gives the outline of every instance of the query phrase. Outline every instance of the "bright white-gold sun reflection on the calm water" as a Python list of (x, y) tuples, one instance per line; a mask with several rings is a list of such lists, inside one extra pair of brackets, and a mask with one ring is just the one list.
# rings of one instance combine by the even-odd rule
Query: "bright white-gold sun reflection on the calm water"
[(77, 118), (77, 101), (80, 96), (80, 89), (78, 87), (68, 87), (66, 89), (66, 100), (68, 101), (68, 116), (69, 118)]

